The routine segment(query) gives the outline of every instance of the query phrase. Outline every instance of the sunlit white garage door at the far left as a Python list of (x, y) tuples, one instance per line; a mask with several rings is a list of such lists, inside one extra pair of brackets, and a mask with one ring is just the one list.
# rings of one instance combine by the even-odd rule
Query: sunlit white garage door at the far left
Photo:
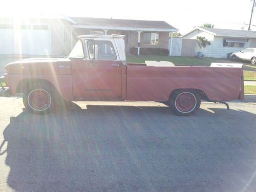
[(0, 25), (0, 54), (51, 55), (50, 27)]

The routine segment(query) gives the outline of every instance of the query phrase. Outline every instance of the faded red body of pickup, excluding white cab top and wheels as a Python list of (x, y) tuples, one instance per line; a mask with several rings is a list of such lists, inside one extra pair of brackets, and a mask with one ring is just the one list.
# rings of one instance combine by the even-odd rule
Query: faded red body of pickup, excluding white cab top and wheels
[[(122, 61), (53, 59), (6, 66), (11, 94), (23, 79), (44, 79), (66, 100), (166, 101), (175, 89), (202, 90), (210, 100), (243, 98), (241, 68), (149, 67)], [(241, 90), (241, 93), (240, 93)]]

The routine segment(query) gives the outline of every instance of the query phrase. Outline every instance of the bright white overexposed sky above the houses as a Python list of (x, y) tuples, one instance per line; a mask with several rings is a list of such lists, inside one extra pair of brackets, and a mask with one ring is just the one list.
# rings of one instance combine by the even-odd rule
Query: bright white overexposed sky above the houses
[[(56, 15), (164, 20), (182, 34), (205, 23), (215, 28), (248, 29), (251, 0), (2, 0), (0, 16), (54, 17)], [(256, 7), (255, 7), (256, 10)], [(256, 11), (252, 17), (256, 25)], [(252, 27), (256, 31), (256, 27)]]

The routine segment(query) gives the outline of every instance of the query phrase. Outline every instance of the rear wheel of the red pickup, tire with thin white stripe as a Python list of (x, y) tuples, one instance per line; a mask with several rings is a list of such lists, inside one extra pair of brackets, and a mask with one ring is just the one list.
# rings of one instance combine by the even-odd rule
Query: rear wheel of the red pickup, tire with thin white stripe
[(201, 105), (201, 98), (195, 91), (179, 90), (169, 98), (170, 108), (179, 116), (194, 114)]

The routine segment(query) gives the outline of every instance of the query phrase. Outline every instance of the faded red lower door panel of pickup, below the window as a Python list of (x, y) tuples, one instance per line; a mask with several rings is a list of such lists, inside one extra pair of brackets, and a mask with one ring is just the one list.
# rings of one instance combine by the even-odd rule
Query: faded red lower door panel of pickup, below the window
[(121, 61), (72, 59), (72, 63), (74, 100), (121, 100)]

